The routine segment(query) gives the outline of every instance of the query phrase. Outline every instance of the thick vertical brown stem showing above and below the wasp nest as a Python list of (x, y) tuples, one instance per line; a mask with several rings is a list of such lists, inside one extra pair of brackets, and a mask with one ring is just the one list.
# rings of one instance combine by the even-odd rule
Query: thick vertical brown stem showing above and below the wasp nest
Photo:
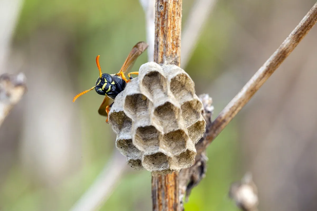
[[(155, 1), (154, 62), (180, 66), (182, 0)], [(181, 210), (178, 173), (152, 177), (154, 211)]]

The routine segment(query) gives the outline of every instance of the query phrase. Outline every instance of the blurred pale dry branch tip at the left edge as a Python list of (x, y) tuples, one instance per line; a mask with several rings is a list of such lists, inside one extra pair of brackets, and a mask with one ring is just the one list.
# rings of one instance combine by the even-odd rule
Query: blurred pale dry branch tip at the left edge
[(2, 74), (0, 76), (0, 126), (13, 106), (26, 92), (25, 76)]

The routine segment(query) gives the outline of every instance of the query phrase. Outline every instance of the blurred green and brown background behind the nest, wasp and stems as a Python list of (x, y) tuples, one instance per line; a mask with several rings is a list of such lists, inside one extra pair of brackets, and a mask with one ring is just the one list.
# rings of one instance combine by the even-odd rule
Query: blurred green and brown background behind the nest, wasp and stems
[[(195, 3), (183, 1), (183, 26)], [(215, 117), (314, 3), (216, 2), (183, 67), (197, 94), (213, 98)], [(0, 210), (70, 210), (101, 177), (100, 210), (151, 210), (150, 173), (127, 166), (115, 149), (97, 112), (103, 97), (92, 91), (72, 102), (99, 76), (96, 55), (103, 72), (116, 73), (146, 40), (140, 2), (0, 0), (0, 17), (0, 73), (22, 71), (28, 85), (0, 128)], [(317, 209), (316, 37), (315, 26), (208, 147), (206, 177), (185, 210), (238, 210), (228, 191), (246, 171), (260, 210)]]

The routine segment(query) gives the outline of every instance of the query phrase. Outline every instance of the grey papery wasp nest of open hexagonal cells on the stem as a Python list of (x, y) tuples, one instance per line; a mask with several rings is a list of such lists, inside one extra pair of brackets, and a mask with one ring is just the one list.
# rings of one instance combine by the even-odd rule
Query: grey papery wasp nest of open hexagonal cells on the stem
[(109, 123), (117, 149), (135, 169), (158, 176), (194, 163), (205, 132), (194, 82), (176, 65), (148, 62), (115, 99)]

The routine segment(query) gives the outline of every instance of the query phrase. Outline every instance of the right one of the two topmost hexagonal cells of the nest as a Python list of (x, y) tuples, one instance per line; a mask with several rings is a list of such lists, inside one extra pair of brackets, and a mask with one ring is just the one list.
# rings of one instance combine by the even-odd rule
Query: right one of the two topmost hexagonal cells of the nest
[(170, 90), (177, 101), (182, 104), (192, 99), (194, 94), (194, 82), (185, 73), (178, 74), (171, 79)]

